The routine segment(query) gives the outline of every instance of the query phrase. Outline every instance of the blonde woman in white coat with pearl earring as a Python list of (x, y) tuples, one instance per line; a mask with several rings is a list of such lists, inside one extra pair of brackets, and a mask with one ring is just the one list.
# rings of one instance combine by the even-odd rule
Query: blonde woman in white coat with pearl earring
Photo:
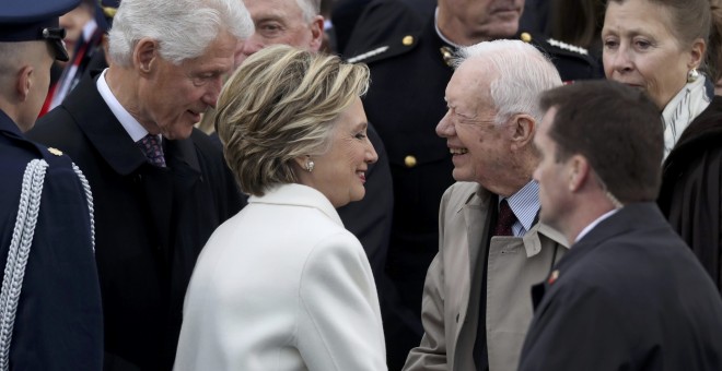
[(336, 207), (376, 160), (365, 65), (288, 46), (249, 57), (216, 124), (248, 205), (203, 248), (175, 370), (385, 370), (371, 268)]

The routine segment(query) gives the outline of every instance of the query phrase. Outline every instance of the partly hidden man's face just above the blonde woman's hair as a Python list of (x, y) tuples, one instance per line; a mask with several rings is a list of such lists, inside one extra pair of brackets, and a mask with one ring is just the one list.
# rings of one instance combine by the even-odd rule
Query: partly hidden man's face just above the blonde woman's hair
[(324, 19), (316, 15), (308, 23), (296, 0), (243, 0), (253, 23), (255, 33), (238, 43), (235, 64), (240, 65), (254, 52), (276, 44), (284, 44), (305, 50), (321, 48), (324, 35)]

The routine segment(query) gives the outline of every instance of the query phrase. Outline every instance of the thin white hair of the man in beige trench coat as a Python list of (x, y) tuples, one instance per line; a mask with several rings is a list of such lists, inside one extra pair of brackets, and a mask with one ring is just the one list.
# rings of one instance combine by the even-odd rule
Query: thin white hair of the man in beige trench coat
[(462, 48), (454, 65), (458, 68), (467, 60), (486, 62), (498, 72), (489, 86), (499, 124), (516, 113), (531, 115), (540, 122), (544, 112), (539, 108), (539, 95), (562, 84), (549, 58), (521, 40), (484, 41)]

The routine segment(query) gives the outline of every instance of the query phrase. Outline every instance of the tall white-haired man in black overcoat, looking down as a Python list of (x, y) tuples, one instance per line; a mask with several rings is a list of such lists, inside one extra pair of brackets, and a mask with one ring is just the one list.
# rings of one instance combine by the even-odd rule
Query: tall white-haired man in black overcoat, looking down
[(67, 152), (94, 190), (105, 370), (171, 370), (198, 253), (242, 206), (194, 123), (252, 29), (237, 0), (123, 1), (109, 68), (30, 133)]

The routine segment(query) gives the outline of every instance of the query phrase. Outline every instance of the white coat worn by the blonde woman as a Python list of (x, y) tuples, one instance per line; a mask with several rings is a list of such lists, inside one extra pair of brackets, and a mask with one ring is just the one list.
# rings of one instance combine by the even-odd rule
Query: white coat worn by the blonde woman
[(251, 196), (194, 272), (175, 370), (385, 370), (371, 267), (313, 188)]

